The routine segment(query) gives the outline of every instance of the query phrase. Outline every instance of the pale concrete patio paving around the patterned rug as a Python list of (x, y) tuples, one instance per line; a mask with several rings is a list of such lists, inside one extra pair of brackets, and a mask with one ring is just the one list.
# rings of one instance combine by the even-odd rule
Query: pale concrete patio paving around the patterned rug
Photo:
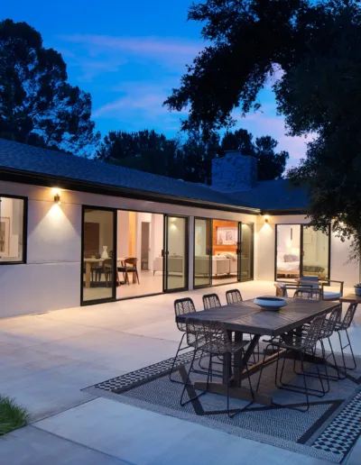
[[(190, 295), (201, 308), (202, 295), (225, 302), (235, 287), (244, 298), (274, 294), (273, 282), (254, 281), (0, 320), (0, 392), (32, 414), (30, 426), (0, 442), (0, 463), (326, 463), (80, 391), (172, 357), (175, 298)], [(361, 354), (358, 314), (350, 336)]]

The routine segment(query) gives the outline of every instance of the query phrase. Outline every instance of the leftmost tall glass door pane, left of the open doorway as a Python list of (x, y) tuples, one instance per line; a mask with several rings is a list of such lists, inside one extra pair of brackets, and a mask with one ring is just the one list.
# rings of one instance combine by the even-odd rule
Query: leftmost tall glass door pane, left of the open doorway
[(113, 297), (114, 214), (105, 210), (84, 212), (83, 300)]

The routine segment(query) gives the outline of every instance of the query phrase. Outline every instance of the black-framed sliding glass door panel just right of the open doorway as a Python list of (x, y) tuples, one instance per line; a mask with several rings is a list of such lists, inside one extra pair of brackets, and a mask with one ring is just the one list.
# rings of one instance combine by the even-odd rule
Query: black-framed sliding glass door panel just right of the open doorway
[(164, 291), (188, 288), (188, 218), (164, 215)]

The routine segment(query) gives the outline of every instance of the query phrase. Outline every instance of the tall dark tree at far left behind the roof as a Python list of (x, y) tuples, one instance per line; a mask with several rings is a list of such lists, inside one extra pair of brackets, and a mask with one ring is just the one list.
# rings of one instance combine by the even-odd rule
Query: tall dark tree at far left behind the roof
[(0, 137), (77, 152), (97, 143), (91, 98), (27, 23), (0, 23)]

